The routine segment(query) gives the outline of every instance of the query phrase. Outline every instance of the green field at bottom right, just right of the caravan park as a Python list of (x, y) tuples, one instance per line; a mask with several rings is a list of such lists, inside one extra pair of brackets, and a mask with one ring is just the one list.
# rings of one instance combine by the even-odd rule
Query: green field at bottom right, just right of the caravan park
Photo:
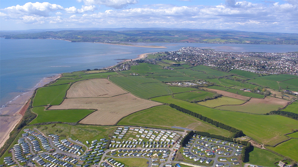
[(268, 150), (254, 147), (249, 153), (249, 164), (258, 166), (276, 166), (274, 163), (283, 160), (283, 157), (276, 155)]

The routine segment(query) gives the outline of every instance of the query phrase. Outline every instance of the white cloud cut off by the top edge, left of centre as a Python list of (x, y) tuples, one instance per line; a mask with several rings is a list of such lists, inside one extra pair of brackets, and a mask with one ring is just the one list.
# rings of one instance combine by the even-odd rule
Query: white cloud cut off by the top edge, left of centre
[(129, 4), (137, 4), (137, 0), (83, 0), (86, 5), (105, 5), (115, 9), (122, 9)]

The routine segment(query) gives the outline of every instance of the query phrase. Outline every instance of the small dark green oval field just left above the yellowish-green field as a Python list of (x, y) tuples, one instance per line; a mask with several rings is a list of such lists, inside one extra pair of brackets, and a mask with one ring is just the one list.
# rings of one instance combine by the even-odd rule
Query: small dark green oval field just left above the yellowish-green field
[(174, 98), (186, 100), (186, 101), (200, 101), (204, 100), (206, 97), (212, 97), (215, 93), (206, 92), (206, 91), (192, 91), (192, 92), (184, 92), (179, 94), (174, 94)]

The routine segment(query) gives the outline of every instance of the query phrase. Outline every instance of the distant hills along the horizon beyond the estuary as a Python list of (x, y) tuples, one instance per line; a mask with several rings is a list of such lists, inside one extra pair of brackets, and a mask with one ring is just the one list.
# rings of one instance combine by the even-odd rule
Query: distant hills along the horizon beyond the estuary
[(177, 28), (84, 28), (1, 31), (6, 39), (62, 39), (72, 42), (199, 42), (236, 44), (298, 44), (296, 33)]

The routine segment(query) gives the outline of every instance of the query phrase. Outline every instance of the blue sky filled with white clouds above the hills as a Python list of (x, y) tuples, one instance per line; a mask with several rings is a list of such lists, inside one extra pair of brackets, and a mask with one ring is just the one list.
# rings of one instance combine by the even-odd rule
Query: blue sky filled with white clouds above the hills
[(0, 0), (0, 30), (190, 28), (298, 33), (298, 1)]

